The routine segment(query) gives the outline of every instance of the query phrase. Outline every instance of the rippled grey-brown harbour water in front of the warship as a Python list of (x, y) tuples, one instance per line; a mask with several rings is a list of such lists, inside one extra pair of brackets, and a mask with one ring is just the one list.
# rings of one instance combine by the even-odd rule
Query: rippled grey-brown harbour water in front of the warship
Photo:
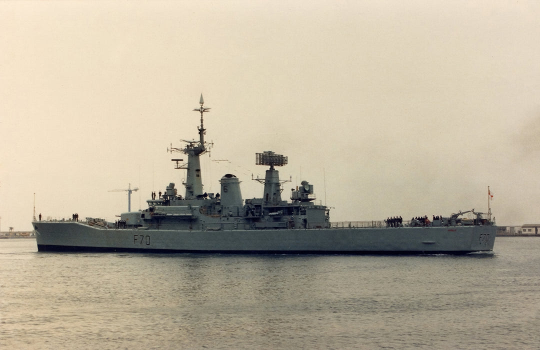
[(0, 240), (0, 348), (539, 348), (540, 238), (494, 254), (38, 253)]

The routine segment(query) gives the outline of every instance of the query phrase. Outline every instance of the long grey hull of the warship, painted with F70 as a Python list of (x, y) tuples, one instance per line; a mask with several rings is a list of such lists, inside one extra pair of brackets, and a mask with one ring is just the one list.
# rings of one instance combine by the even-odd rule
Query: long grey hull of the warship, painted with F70
[(447, 253), (492, 251), (495, 226), (178, 231), (38, 221), (39, 251)]

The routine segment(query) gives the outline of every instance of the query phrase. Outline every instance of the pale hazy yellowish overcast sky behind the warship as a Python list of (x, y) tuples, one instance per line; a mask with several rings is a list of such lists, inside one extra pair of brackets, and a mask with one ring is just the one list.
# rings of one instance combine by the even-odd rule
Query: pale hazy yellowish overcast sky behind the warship
[[(36, 215), (116, 220), (185, 173), (289, 158), (332, 221), (491, 210), (540, 223), (538, 1), (2, 1), (1, 230)], [(219, 161), (218, 161), (219, 160)]]

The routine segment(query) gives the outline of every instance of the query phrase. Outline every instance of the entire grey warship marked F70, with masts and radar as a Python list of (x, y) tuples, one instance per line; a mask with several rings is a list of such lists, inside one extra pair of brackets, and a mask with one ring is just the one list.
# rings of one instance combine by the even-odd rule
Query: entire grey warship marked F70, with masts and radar
[[(255, 164), (266, 166), (261, 198), (242, 199), (240, 180), (225, 174), (220, 193), (203, 189), (200, 156), (208, 152), (201, 95), (198, 140), (182, 140), (171, 148), (187, 156), (174, 158), (186, 170), (184, 196), (175, 183), (164, 193), (152, 192), (144, 210), (120, 214), (114, 222), (78, 214), (71, 219), (34, 219), (38, 251), (280, 253), (280, 254), (466, 254), (492, 251), (495, 220), (491, 212), (474, 209), (447, 217), (403, 220), (330, 221), (329, 207), (315, 201), (314, 186), (301, 181), (283, 200), (283, 184), (276, 167), (287, 164), (282, 154), (255, 154)], [(131, 192), (129, 193), (131, 194)], [(489, 203), (489, 201), (488, 201)], [(468, 217), (463, 215), (468, 213)]]

